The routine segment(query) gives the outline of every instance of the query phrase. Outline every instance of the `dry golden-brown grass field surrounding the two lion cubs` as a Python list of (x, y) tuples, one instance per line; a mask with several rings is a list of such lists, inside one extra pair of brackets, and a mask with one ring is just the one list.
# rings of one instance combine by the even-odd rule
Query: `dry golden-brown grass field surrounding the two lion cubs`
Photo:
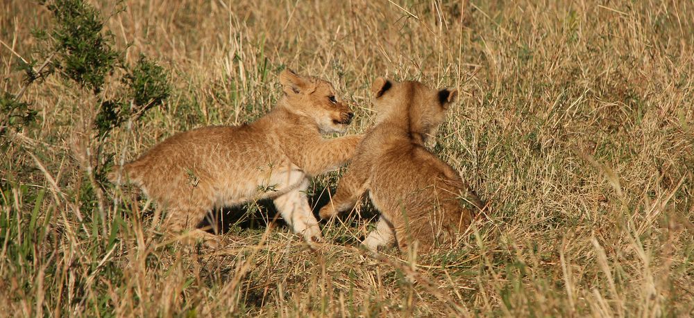
[[(38, 125), (0, 154), (0, 316), (693, 315), (691, 1), (124, 4), (107, 25), (117, 48), (162, 61), (174, 94), (99, 145), (98, 98), (58, 76), (27, 89)], [(0, 4), (3, 90), (19, 91), (17, 55), (39, 58), (30, 30), (49, 23), (33, 1)], [(353, 132), (372, 123), (376, 76), (459, 89), (433, 149), (491, 202), (488, 220), (416, 259), (357, 249), (368, 205), (323, 224), (319, 251), (281, 223), (191, 250), (160, 236), (153, 205), (89, 177), (100, 146), (132, 159), (261, 116), (285, 66), (335, 82)], [(112, 80), (101, 96), (117, 94)]]

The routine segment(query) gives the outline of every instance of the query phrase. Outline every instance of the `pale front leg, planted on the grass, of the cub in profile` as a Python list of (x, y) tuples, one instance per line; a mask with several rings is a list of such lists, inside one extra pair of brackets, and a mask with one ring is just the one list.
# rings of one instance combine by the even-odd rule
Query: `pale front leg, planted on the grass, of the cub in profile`
[(306, 197), (308, 185), (308, 179), (304, 179), (298, 187), (276, 197), (273, 203), (291, 231), (303, 235), (307, 242), (319, 242), (323, 236), (321, 235), (321, 227), (319, 227), (318, 221), (311, 211), (311, 206), (308, 204)]

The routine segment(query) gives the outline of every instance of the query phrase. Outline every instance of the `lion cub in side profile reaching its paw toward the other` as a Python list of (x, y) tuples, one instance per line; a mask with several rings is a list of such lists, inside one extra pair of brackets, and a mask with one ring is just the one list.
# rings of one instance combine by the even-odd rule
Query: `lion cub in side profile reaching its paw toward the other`
[(284, 96), (257, 121), (234, 127), (203, 127), (171, 136), (139, 159), (116, 171), (167, 207), (164, 227), (192, 229), (192, 235), (213, 240), (196, 229), (206, 213), (223, 206), (271, 198), (295, 233), (311, 242), (321, 229), (308, 204), (309, 178), (346, 163), (362, 139), (344, 134), (353, 113), (335, 97), (330, 82), (280, 73)]

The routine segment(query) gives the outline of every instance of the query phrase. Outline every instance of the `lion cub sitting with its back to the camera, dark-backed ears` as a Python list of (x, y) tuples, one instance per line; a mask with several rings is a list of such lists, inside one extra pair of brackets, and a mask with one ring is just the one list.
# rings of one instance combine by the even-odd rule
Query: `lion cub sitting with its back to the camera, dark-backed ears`
[[(425, 140), (446, 119), (455, 89), (436, 91), (419, 82), (378, 78), (371, 90), (378, 115), (357, 146), (332, 204), (321, 218), (352, 208), (365, 191), (381, 216), (364, 245), (376, 251), (393, 241), (401, 251), (418, 241), (419, 251), (455, 238), (482, 209), (477, 195), (448, 164), (424, 148)], [(394, 237), (393, 237), (394, 236)]]

